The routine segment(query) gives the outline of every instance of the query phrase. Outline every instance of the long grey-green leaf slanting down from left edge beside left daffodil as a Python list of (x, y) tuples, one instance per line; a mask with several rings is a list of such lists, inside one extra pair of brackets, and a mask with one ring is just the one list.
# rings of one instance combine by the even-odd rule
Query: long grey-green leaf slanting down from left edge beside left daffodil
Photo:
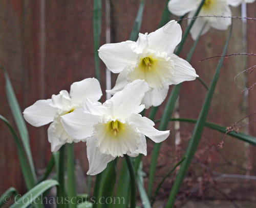
[(15, 96), (14, 90), (12, 88), (12, 84), (11, 84), (10, 78), (8, 76), (8, 73), (3, 66), (1, 68), (5, 74), (6, 94), (7, 94), (9, 105), (11, 107), (12, 115), (15, 119), (15, 123), (17, 125), (20, 138), (22, 139), (22, 142), (23, 142), (23, 145), (24, 145), (27, 157), (28, 157), (30, 169), (32, 171), (33, 178), (36, 181), (35, 168), (34, 168), (33, 158), (32, 158), (30, 145), (29, 145), (28, 129), (26, 127), (25, 120), (22, 115), (22, 111), (19, 108), (18, 101)]

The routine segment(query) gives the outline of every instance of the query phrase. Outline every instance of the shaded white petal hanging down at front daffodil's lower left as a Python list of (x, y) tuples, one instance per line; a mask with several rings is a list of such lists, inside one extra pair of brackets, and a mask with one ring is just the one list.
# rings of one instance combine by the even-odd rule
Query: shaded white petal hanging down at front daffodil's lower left
[(96, 138), (90, 137), (87, 140), (87, 157), (89, 161), (88, 175), (96, 175), (102, 172), (109, 162), (113, 161), (115, 157), (109, 154), (102, 154), (99, 148), (96, 147)]

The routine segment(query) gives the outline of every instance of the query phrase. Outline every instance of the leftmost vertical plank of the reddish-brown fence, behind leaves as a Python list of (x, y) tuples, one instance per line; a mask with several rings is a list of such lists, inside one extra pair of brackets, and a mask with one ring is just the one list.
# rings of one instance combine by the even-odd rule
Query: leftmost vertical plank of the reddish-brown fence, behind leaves
[[(22, 62), (22, 1), (1, 1), (0, 7), (0, 64), (11, 77), (18, 101), (23, 100), (23, 62)], [(13, 125), (14, 119), (5, 93), (4, 74), (0, 71), (0, 114)], [(14, 125), (15, 126), (15, 125)], [(7, 126), (0, 124), (0, 193), (11, 186), (19, 191), (24, 189), (24, 180), (19, 166), (16, 146)]]

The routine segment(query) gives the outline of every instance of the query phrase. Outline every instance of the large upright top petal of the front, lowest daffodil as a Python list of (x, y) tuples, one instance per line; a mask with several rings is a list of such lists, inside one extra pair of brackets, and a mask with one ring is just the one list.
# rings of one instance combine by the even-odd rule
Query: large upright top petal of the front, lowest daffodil
[(135, 80), (114, 94), (110, 99), (113, 102), (113, 117), (125, 118), (131, 113), (141, 112), (144, 108), (140, 103), (147, 90), (147, 83)]

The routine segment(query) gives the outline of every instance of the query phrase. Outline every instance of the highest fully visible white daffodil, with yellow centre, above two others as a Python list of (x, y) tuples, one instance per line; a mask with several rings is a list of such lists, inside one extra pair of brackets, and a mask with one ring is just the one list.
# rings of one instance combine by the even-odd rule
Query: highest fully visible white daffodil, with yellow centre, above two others
[(122, 90), (134, 80), (144, 80), (150, 87), (142, 103), (145, 108), (159, 106), (165, 99), (169, 85), (195, 80), (195, 69), (174, 54), (181, 41), (181, 27), (172, 20), (150, 34), (139, 34), (137, 42), (104, 44), (99, 57), (113, 73), (120, 73), (111, 94)]

